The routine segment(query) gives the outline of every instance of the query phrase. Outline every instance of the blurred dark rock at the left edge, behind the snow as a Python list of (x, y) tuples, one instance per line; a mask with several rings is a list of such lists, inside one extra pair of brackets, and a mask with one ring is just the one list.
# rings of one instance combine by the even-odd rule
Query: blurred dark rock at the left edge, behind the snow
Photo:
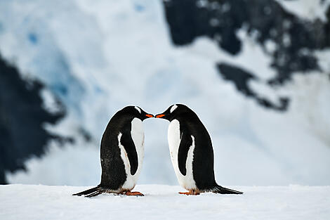
[[(25, 169), (25, 160), (44, 154), (51, 140), (66, 141), (49, 134), (44, 124), (55, 124), (65, 115), (43, 108), (41, 82), (25, 80), (18, 70), (0, 57), (0, 183), (5, 172)], [(70, 140), (69, 140), (70, 141)]]

